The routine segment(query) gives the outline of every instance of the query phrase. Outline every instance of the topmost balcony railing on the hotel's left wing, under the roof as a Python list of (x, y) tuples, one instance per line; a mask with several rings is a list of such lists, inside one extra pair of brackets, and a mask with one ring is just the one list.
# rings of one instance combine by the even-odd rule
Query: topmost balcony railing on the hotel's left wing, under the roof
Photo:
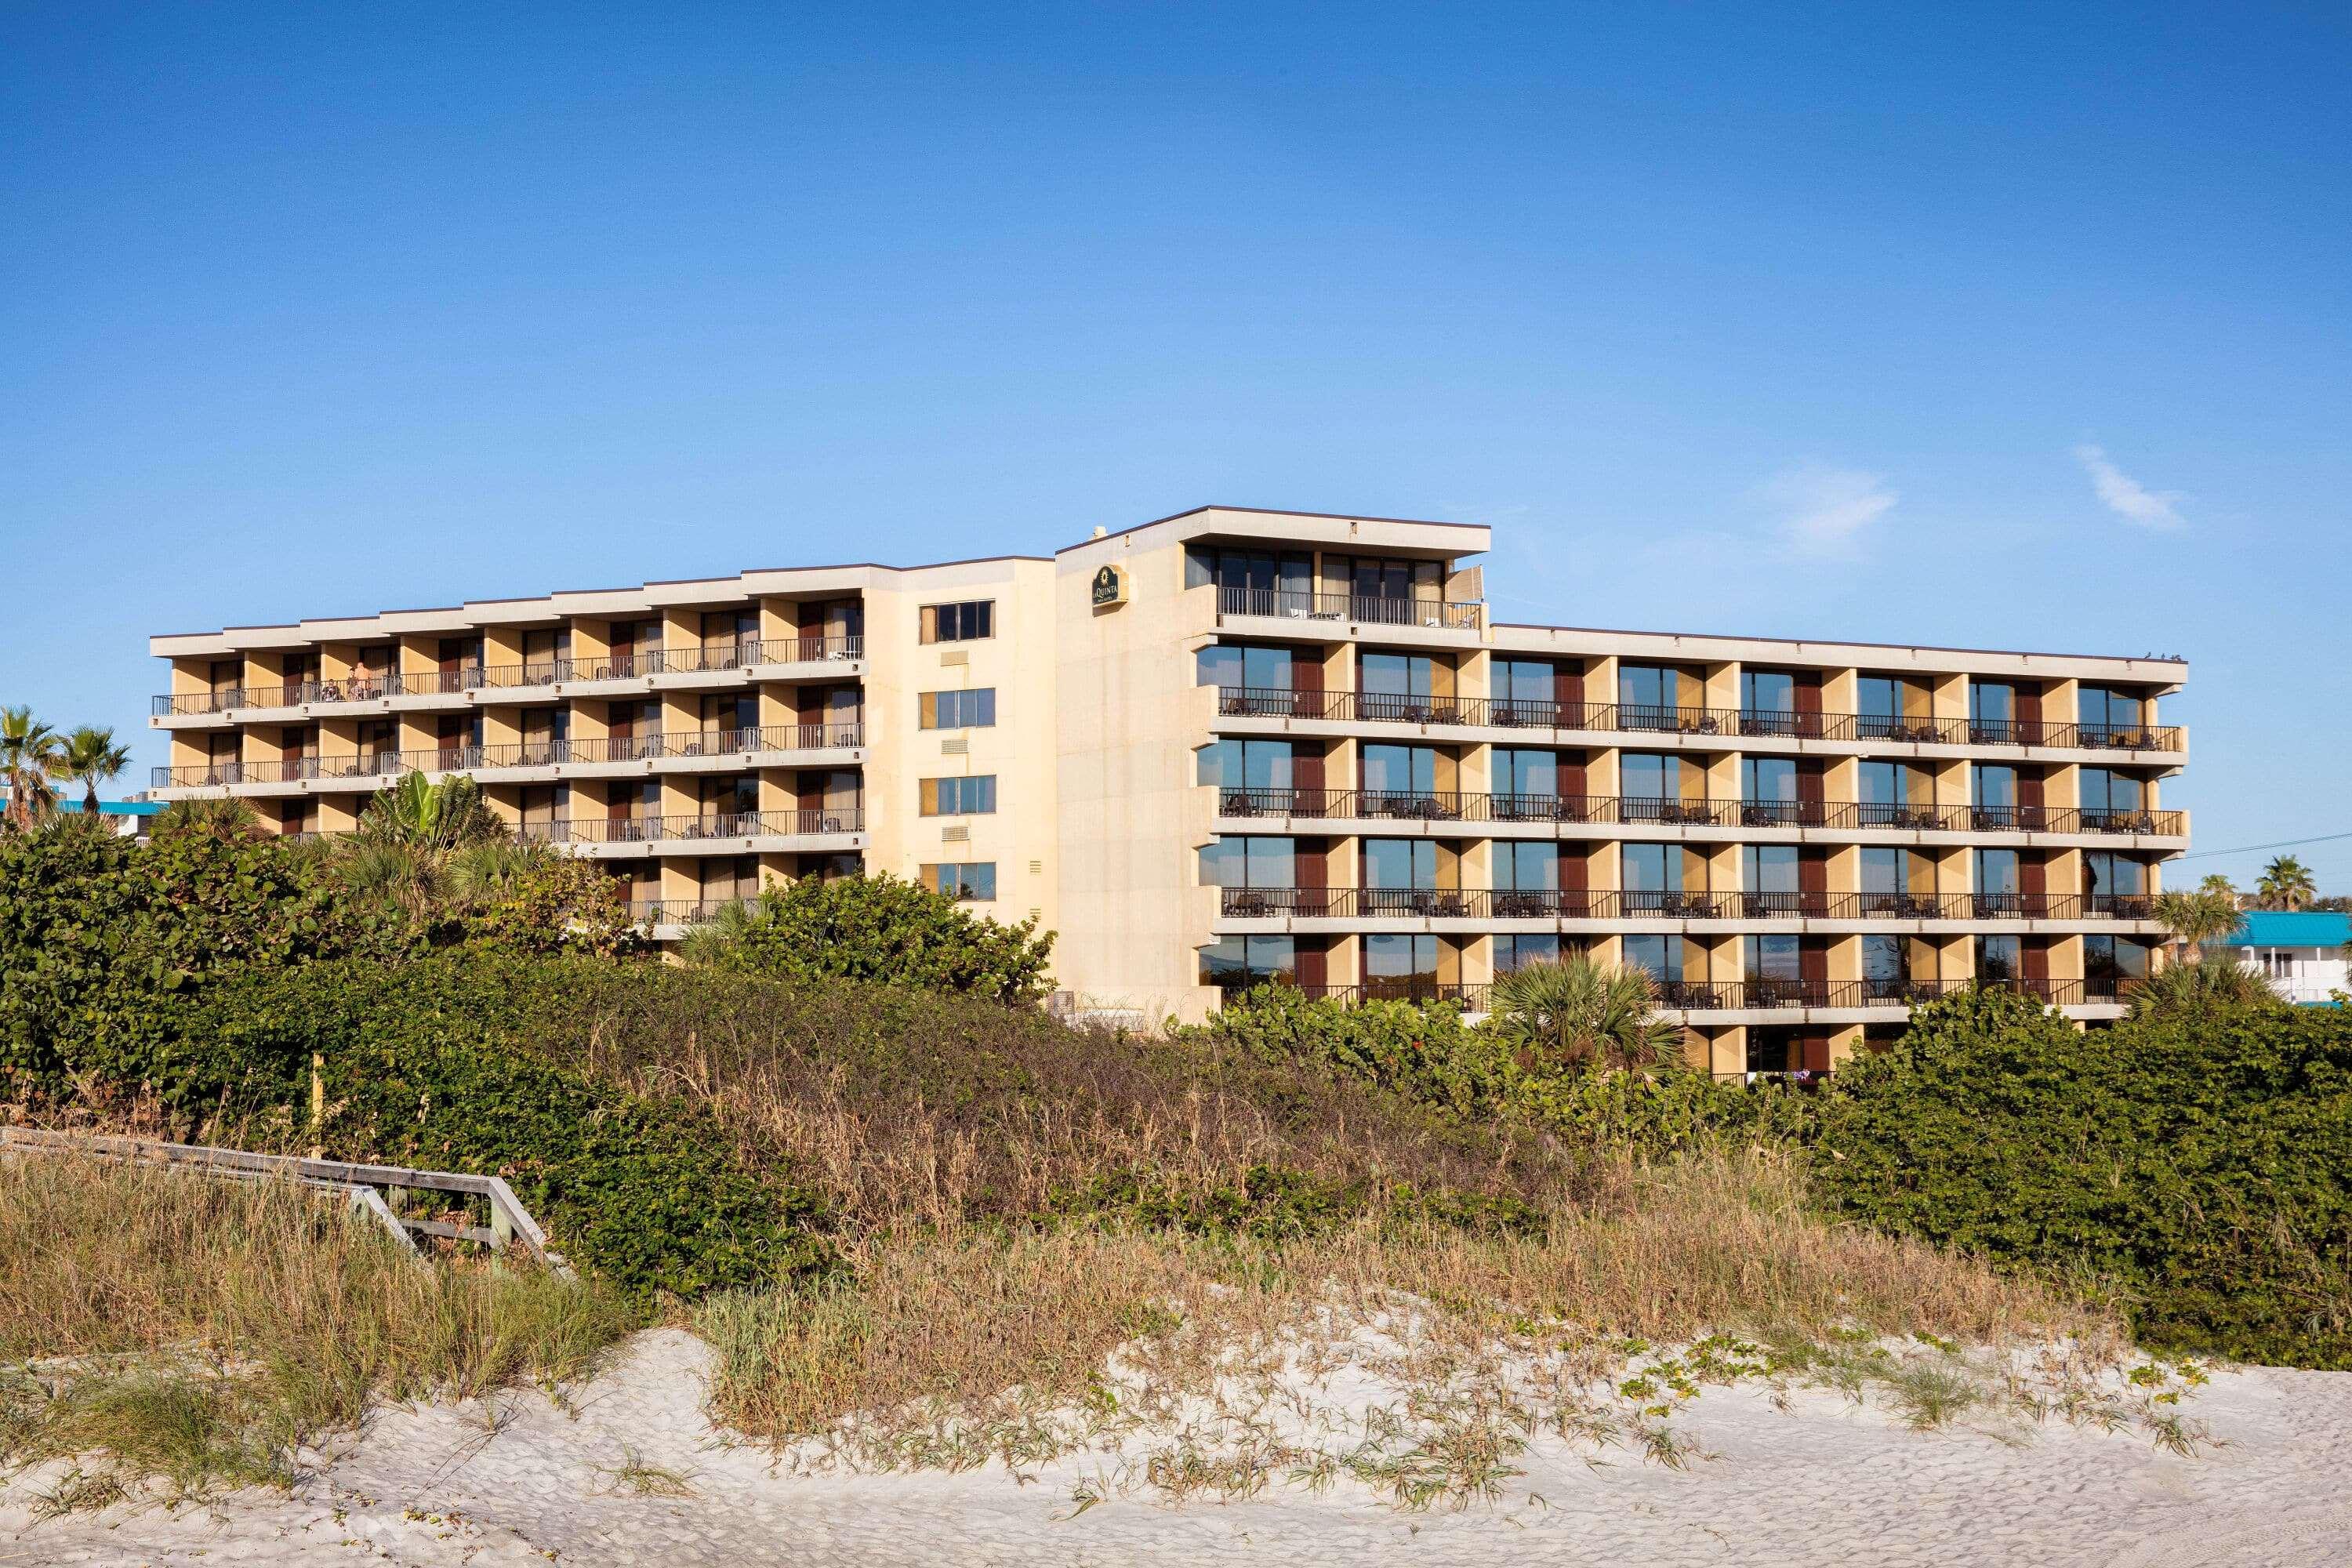
[(546, 658), (520, 665), (461, 665), (456, 670), (353, 675), (346, 679), (228, 686), (221, 691), (165, 691), (153, 698), (153, 712), (155, 717), (183, 719), (263, 708), (383, 703), (400, 696), (572, 686), (649, 679), (656, 675), (720, 675), (769, 665), (854, 663), (863, 656), (863, 637), (750, 637), (743, 642), (612, 654), (604, 658)]

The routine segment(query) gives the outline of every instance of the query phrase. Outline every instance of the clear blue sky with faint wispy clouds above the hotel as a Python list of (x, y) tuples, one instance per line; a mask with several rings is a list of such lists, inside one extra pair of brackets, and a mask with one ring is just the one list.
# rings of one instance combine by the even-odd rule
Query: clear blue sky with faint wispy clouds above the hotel
[(2199, 849), (2352, 832), (2347, 110), (2340, 5), (7, 7), (0, 701), (1225, 501), (2185, 654)]

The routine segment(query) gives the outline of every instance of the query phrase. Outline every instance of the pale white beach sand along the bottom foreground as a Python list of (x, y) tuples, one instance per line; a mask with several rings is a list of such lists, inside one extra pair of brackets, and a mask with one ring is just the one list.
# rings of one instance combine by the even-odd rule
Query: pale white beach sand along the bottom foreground
[[(2225, 1446), (2183, 1460), (2143, 1432), (2049, 1422), (2006, 1441), (1910, 1432), (1837, 1394), (1710, 1387), (1675, 1415), (1715, 1458), (1684, 1472), (1538, 1436), (1496, 1505), (1404, 1514), (1355, 1481), (1247, 1502), (1112, 1497), (1073, 1516), (1103, 1455), (957, 1476), (779, 1474), (701, 1410), (706, 1349), (640, 1335), (602, 1378), (485, 1408), (386, 1410), (292, 1495), (212, 1509), (118, 1507), (33, 1523), (56, 1467), (0, 1488), (19, 1563), (2352, 1563), (2352, 1373), (2216, 1373), (2190, 1413)], [(630, 1460), (691, 1497), (619, 1486)], [(1599, 1460), (1599, 1462), (1595, 1462)]]

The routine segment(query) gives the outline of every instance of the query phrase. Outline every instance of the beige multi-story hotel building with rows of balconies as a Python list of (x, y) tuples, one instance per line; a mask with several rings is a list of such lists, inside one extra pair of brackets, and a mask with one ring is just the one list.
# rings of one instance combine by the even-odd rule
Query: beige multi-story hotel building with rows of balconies
[(1486, 529), (1202, 508), (1040, 557), (800, 567), (151, 639), (158, 799), (348, 830), (407, 771), (675, 940), (896, 872), (1058, 931), (1075, 1009), (1646, 966), (1719, 1074), (1971, 980), (2112, 1018), (2161, 940), (2185, 665), (1491, 621)]

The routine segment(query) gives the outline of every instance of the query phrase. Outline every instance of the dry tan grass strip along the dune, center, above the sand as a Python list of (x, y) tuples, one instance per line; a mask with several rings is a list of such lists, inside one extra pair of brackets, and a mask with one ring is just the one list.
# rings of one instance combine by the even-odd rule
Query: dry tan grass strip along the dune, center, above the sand
[[(851, 1241), (851, 1265), (854, 1288), (703, 1309), (699, 1328), (720, 1349), (713, 1403), (729, 1425), (790, 1439), (858, 1418), (866, 1460), (1021, 1462), (1047, 1443), (1044, 1413), (1105, 1396), (1122, 1345), (1143, 1373), (1124, 1408), (1167, 1410), (1237, 1373), (1312, 1359), (1355, 1326), (1404, 1319), (1388, 1368), (1472, 1403), (1496, 1356), (1562, 1359), (1566, 1389), (1623, 1359), (1628, 1338), (2112, 1335), (2030, 1281), (1825, 1225), (1799, 1178), (1757, 1154), (1625, 1168), (1604, 1204), (1559, 1211), (1543, 1239), (1376, 1218), (1301, 1241), (953, 1227), (868, 1234)], [(1555, 1401), (1559, 1420), (1573, 1403)]]

